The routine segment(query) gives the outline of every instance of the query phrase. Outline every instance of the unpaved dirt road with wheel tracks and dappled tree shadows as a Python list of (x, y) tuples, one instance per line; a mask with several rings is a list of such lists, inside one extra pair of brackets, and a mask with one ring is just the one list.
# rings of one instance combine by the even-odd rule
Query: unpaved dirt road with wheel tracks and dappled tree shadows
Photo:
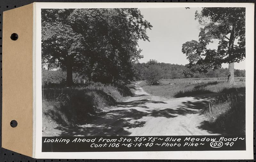
[(59, 128), (43, 136), (173, 136), (220, 135), (209, 128), (202, 107), (212, 95), (165, 99), (133, 84), (135, 94), (92, 122)]

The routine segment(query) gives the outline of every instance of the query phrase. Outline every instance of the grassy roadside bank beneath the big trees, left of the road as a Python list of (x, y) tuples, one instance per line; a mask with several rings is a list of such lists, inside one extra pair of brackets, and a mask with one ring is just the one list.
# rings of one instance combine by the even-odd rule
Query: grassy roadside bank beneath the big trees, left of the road
[(85, 124), (110, 106), (132, 95), (127, 86), (90, 83), (72, 88), (44, 88), (44, 129)]

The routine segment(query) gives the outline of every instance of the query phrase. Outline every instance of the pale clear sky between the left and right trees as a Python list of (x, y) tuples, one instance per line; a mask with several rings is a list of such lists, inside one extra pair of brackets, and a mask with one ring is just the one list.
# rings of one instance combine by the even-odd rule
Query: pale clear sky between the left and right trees
[[(171, 64), (188, 64), (186, 55), (181, 52), (182, 44), (190, 40), (198, 40), (199, 23), (195, 20), (195, 11), (201, 8), (140, 8), (144, 19), (153, 25), (152, 30), (147, 30), (148, 41), (139, 40), (139, 48), (144, 58)], [(217, 42), (208, 48), (217, 47)], [(228, 67), (228, 64), (222, 64)], [(235, 63), (235, 69), (245, 69), (245, 60)]]

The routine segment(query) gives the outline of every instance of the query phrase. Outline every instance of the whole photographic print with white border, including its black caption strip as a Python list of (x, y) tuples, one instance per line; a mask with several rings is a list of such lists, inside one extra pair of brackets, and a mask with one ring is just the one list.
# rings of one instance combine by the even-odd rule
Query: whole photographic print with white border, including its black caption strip
[(37, 158), (252, 157), (254, 5), (154, 4), (36, 5)]

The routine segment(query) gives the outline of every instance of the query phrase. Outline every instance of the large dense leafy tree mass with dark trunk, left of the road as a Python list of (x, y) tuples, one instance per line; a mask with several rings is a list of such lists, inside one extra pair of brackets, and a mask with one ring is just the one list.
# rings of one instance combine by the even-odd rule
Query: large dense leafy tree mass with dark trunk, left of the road
[(73, 71), (91, 81), (126, 81), (151, 27), (138, 9), (44, 9), (42, 62), (66, 69), (68, 85)]

